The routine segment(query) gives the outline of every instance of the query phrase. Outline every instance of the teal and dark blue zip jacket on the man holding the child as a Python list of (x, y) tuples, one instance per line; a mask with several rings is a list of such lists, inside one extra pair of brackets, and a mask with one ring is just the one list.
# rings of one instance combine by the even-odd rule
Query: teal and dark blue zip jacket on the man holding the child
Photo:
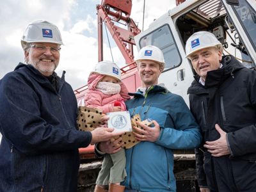
[(125, 104), (131, 116), (156, 120), (161, 131), (155, 142), (141, 141), (126, 153), (125, 187), (138, 191), (176, 191), (173, 175), (173, 149), (189, 149), (200, 145), (202, 136), (188, 106), (179, 95), (155, 85), (134, 96)]

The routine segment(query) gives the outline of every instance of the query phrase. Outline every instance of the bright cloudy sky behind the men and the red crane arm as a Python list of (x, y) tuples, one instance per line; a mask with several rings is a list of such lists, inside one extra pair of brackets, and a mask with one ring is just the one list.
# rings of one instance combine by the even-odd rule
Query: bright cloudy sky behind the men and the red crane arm
[[(132, 1), (131, 17), (138, 22), (140, 29), (143, 2)], [(144, 29), (175, 6), (175, 0), (156, 2), (146, 1)], [(96, 4), (100, 3), (100, 0), (1, 0), (0, 79), (11, 72), (20, 61), (24, 61), (20, 38), (26, 26), (33, 20), (45, 19), (58, 26), (65, 44), (61, 48), (60, 64), (56, 72), (61, 76), (62, 70), (66, 70), (66, 81), (73, 89), (85, 85), (98, 58)], [(104, 36), (106, 37), (106, 31)], [(115, 62), (120, 67), (124, 66), (124, 58), (113, 40), (111, 49)], [(107, 38), (104, 38), (104, 60), (112, 60)]]

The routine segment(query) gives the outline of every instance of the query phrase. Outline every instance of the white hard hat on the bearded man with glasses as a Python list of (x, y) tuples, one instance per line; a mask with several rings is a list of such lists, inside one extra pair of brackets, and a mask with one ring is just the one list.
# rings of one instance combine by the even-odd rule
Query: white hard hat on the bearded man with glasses
[(27, 26), (21, 38), (21, 46), (25, 50), (33, 42), (63, 45), (59, 29), (47, 20), (36, 20)]

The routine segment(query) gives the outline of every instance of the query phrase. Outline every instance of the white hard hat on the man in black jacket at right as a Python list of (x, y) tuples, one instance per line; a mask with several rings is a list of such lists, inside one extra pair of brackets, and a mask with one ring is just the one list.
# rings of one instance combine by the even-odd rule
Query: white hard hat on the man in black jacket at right
[(193, 52), (205, 49), (207, 47), (220, 47), (223, 50), (221, 42), (209, 31), (199, 31), (191, 35), (186, 42), (186, 58)]

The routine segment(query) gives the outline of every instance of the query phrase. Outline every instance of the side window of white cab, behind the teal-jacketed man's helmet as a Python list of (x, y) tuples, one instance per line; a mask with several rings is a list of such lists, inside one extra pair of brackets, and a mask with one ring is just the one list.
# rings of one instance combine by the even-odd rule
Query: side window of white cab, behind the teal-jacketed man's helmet
[(140, 39), (140, 47), (147, 45), (154, 45), (163, 51), (165, 70), (180, 65), (181, 57), (167, 24)]

